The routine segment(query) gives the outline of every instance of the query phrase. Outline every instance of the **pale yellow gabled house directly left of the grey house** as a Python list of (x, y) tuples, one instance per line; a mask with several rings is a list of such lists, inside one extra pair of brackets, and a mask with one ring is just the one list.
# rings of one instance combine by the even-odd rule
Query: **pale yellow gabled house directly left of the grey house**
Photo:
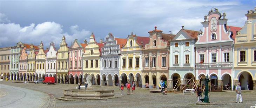
[[(87, 41), (85, 40), (85, 43)], [(90, 35), (90, 41), (85, 46), (85, 52), (83, 53), (83, 81), (86, 81), (88, 75), (92, 76), (92, 85), (100, 85), (100, 56), (101, 47), (103, 43), (97, 43), (95, 41), (95, 35)]]

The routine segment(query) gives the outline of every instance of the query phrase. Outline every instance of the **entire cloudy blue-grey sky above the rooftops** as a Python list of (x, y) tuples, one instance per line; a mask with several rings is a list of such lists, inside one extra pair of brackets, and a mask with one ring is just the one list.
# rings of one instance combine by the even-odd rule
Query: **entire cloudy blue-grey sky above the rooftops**
[(0, 47), (15, 46), (19, 41), (45, 47), (60, 43), (66, 36), (70, 46), (74, 39), (83, 42), (91, 33), (96, 40), (108, 33), (126, 38), (133, 32), (149, 36), (148, 31), (161, 29), (176, 34), (181, 26), (199, 31), (204, 15), (211, 8), (225, 12), (229, 26), (242, 27), (245, 14), (256, 6), (248, 1), (165, 1), (165, 0), (77, 0), (77, 1), (0, 1)]

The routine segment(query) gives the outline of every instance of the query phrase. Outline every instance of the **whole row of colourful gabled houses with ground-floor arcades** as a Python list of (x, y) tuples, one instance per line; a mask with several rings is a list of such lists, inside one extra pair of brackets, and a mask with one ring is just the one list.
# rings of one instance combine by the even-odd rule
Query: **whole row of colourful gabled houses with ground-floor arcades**
[[(177, 34), (155, 29), (149, 36), (131, 33), (126, 39), (109, 33), (96, 42), (95, 35), (68, 46), (62, 37), (44, 49), (18, 42), (15, 47), (0, 48), (0, 74), (10, 80), (35, 81), (45, 76), (58, 83), (77, 84), (92, 76), (93, 85), (119, 86), (134, 81), (137, 87), (157, 88), (161, 80), (168, 88), (188, 81), (224, 88), (241, 82), (242, 89), (256, 89), (256, 10), (248, 11), (245, 25), (227, 25), (226, 14), (212, 9), (204, 16), (200, 31), (184, 29)], [(233, 87), (233, 86), (231, 86)], [(178, 89), (176, 87), (176, 89)]]

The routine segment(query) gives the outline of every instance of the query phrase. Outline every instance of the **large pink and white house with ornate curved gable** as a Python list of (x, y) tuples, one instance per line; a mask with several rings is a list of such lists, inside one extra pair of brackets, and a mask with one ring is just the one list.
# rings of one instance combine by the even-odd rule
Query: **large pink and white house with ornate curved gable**
[[(196, 47), (196, 80), (200, 84), (205, 83), (208, 75), (210, 85), (215, 89), (223, 89), (223, 85), (231, 85), (233, 71), (233, 50), (234, 36), (231, 29), (227, 26), (225, 13), (221, 14), (218, 9), (209, 11), (204, 16), (203, 30), (200, 30)], [(201, 78), (201, 79), (200, 79)]]

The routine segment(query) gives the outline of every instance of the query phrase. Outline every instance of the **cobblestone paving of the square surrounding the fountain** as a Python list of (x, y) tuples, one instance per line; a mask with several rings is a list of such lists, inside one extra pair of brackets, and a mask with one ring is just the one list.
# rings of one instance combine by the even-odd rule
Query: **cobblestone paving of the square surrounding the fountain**
[[(12, 83), (11, 81), (3, 81), (0, 84), (23, 87), (33, 90), (39, 90), (48, 94), (52, 94), (54, 97), (63, 96), (64, 89), (75, 89), (77, 85), (43, 85), (29, 83), (24, 85), (22, 83)], [(112, 86), (93, 86), (94, 89), (108, 89), (114, 90), (115, 96), (121, 96), (121, 90), (119, 87)], [(131, 90), (132, 91), (132, 90)], [(130, 92), (131, 92), (130, 91)], [(76, 100), (76, 101), (62, 101), (62, 100), (50, 100), (51, 104), (56, 102), (54, 107), (70, 107), (70, 108), (83, 108), (83, 107), (206, 107), (206, 105), (196, 105), (196, 95), (185, 94), (173, 94), (168, 93), (162, 95), (161, 93), (149, 93), (149, 89), (136, 88), (135, 94), (126, 95), (126, 88), (124, 89), (124, 96), (108, 100)], [(256, 104), (256, 91), (242, 92), (243, 103), (236, 102), (235, 91), (227, 92), (211, 92), (209, 102), (213, 105), (207, 105), (207, 107), (213, 108), (249, 108)]]

